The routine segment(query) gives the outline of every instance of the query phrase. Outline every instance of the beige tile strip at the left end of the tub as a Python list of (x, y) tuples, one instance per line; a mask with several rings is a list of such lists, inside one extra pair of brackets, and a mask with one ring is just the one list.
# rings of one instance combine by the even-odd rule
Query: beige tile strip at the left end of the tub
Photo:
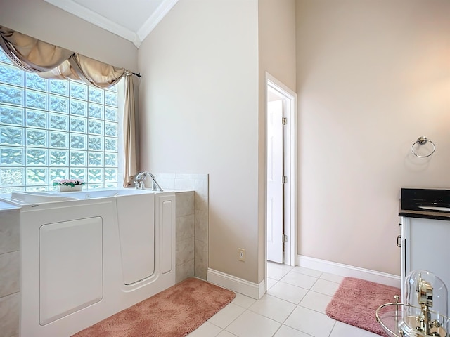
[(0, 331), (19, 333), (19, 209), (0, 211)]

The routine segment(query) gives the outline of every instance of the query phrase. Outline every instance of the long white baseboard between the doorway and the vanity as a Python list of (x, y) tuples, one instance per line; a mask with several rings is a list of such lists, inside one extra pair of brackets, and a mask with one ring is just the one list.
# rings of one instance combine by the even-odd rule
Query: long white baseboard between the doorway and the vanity
[(358, 279), (365, 279), (366, 281), (401, 288), (401, 278), (399, 276), (385, 272), (377, 272), (376, 270), (354, 267), (353, 265), (343, 265), (342, 263), (320, 260), (319, 258), (309, 258), (308, 256), (302, 255), (297, 256), (297, 265), (321, 272), (330, 272), (331, 274), (344, 277), (356, 277)]

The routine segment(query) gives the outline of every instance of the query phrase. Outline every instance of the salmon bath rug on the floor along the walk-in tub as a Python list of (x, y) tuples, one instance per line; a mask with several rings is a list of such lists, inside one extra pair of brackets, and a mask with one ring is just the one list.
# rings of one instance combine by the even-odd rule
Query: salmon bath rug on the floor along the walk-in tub
[(201, 279), (185, 279), (72, 337), (182, 337), (236, 296)]

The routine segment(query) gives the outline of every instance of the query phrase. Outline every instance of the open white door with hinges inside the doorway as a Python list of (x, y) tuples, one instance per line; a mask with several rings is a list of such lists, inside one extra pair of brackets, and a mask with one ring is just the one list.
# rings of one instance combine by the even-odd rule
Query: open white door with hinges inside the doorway
[(267, 103), (267, 260), (283, 263), (283, 100)]

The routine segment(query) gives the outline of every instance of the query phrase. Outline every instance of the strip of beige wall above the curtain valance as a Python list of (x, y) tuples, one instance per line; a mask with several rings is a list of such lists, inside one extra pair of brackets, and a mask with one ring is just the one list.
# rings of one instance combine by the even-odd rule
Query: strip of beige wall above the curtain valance
[(0, 25), (116, 67), (137, 70), (134, 44), (44, 0), (0, 0)]

